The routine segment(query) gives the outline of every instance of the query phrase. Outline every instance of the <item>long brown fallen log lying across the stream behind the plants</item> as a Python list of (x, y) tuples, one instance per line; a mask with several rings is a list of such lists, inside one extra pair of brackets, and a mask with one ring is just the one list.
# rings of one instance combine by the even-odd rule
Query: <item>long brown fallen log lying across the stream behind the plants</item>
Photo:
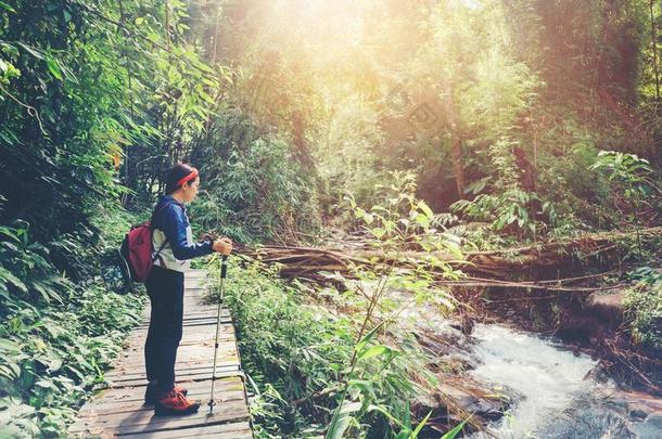
[[(539, 243), (530, 246), (505, 248), (489, 251), (468, 251), (463, 259), (444, 251), (419, 251), (412, 249), (386, 251), (383, 249), (361, 248), (321, 248), (295, 246), (262, 246), (247, 249), (244, 253), (265, 263), (279, 263), (280, 273), (284, 277), (307, 277), (321, 280), (324, 272), (339, 272), (345, 277), (352, 277), (355, 267), (399, 267), (413, 269), (425, 263), (431, 258), (447, 263), (455, 270), (467, 275), (459, 281), (445, 281), (466, 286), (504, 286), (532, 289), (571, 290), (559, 282), (568, 279), (549, 279), (537, 283), (508, 282), (499, 284), (499, 280), (511, 280), (520, 273), (553, 268), (566, 268), (571, 264), (586, 264), (596, 257), (615, 251), (619, 242), (632, 238), (638, 233), (640, 238), (659, 236), (662, 228), (651, 228), (631, 232), (596, 233), (557, 242)], [(577, 256), (585, 258), (581, 261)], [(431, 270), (434, 270), (430, 266)], [(442, 270), (438, 270), (443, 273)], [(597, 276), (597, 275), (596, 275)], [(444, 281), (442, 279), (442, 281)], [(555, 285), (556, 284), (556, 285)], [(584, 288), (594, 292), (598, 288)]]

